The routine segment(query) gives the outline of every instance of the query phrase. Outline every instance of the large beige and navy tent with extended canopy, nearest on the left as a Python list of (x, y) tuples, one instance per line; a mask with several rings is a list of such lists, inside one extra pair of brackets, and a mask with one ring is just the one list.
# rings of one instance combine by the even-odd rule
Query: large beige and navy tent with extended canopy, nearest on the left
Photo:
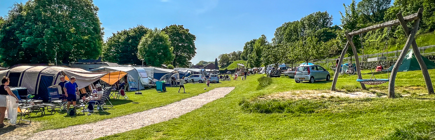
[[(47, 101), (47, 88), (60, 82), (60, 75), (76, 77), (78, 88), (82, 89), (103, 78), (108, 73), (111, 72), (88, 72), (81, 68), (65, 68), (59, 66), (18, 66), (0, 71), (0, 76), (9, 77), (11, 87), (25, 87), (27, 88), (28, 94), (35, 94), (36, 97), (41, 97), (43, 101)], [(125, 72), (114, 73), (118, 73), (118, 75), (126, 74)]]

